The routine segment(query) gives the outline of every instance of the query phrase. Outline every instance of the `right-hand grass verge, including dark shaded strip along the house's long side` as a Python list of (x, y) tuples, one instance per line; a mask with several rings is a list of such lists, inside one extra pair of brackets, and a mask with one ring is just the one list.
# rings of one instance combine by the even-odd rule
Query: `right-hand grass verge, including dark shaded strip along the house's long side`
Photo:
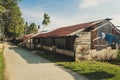
[(48, 59), (60, 66), (68, 68), (91, 80), (120, 80), (120, 66), (109, 62), (80, 61), (73, 62), (73, 58), (64, 55), (40, 50), (41, 57)]

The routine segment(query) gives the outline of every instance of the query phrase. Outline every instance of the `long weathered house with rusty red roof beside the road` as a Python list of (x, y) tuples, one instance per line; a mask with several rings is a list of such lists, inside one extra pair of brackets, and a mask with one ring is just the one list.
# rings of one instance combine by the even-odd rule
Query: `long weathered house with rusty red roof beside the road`
[[(110, 20), (107, 18), (62, 27), (48, 33), (28, 37), (30, 40), (28, 43), (32, 44), (32, 47), (29, 48), (39, 49), (42, 47), (49, 51), (72, 56), (76, 61), (103, 59), (108, 54), (111, 55), (109, 57), (114, 58), (113, 53), (117, 51), (117, 37), (120, 31)], [(112, 52), (112, 50), (114, 51)]]

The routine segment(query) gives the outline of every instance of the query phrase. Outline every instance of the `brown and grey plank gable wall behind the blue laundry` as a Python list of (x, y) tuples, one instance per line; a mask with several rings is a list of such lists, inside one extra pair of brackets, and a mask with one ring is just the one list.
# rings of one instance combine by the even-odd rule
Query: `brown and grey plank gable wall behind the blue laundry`
[(108, 21), (103, 21), (99, 23), (98, 25), (95, 25), (95, 29), (91, 31), (91, 49), (102, 50), (105, 48), (105, 45), (108, 44), (105, 41), (105, 39), (98, 38), (100, 37), (102, 32), (104, 32), (105, 34), (116, 35), (115, 29), (112, 27), (112, 25), (109, 24)]

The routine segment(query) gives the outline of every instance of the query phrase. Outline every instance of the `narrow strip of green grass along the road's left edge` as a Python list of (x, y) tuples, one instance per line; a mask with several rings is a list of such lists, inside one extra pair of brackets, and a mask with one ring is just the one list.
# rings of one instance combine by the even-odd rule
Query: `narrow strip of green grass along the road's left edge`
[(0, 51), (0, 80), (4, 80), (4, 59), (3, 59), (3, 51)]

